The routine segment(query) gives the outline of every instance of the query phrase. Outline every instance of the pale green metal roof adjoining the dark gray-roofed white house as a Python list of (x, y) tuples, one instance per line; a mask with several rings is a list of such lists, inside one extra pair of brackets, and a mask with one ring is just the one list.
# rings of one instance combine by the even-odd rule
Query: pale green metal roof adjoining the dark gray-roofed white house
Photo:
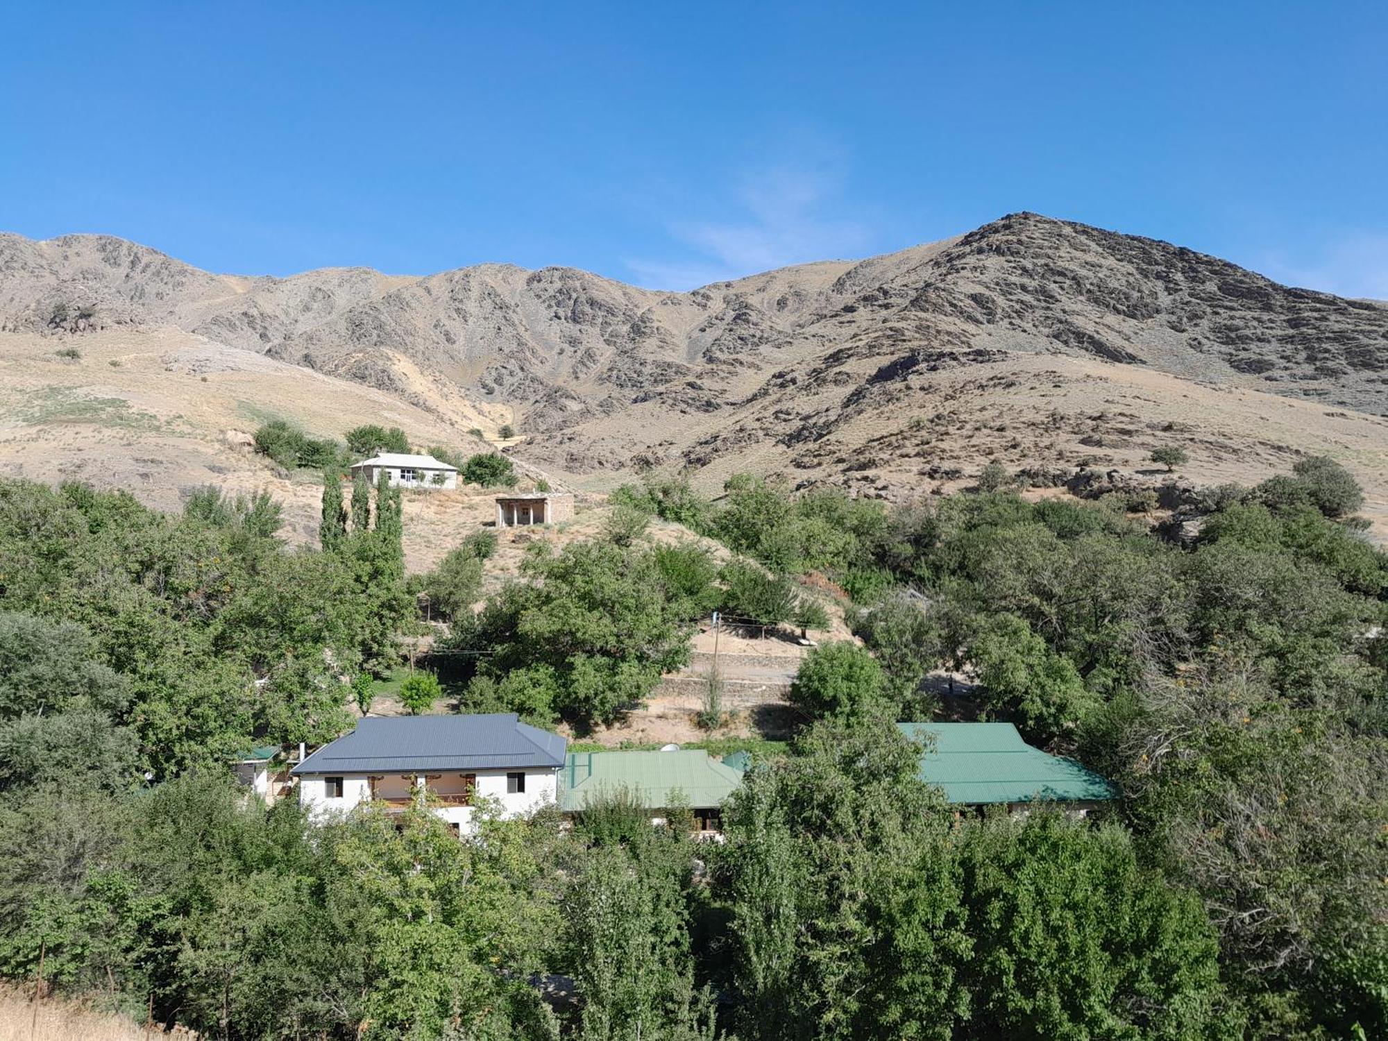
[(704, 750), (672, 752), (569, 752), (559, 775), (559, 806), (580, 811), (590, 794), (629, 790), (652, 809), (679, 791), (691, 809), (718, 806), (738, 784), (741, 770), (711, 759)]

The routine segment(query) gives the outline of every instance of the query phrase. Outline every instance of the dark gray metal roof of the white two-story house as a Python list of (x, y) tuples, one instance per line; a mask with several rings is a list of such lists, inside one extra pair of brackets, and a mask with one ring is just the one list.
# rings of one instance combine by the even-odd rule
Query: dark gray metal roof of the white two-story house
[(362, 719), (293, 773), (411, 773), (564, 766), (568, 743), (522, 723), (515, 712), (484, 716)]

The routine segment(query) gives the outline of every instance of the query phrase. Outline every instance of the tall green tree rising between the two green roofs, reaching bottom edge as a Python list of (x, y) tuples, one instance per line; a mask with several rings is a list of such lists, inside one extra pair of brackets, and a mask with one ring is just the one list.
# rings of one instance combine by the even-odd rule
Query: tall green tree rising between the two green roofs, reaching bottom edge
[[(790, 756), (750, 772), (725, 806), (719, 880), (740, 1035), (941, 1037), (899, 1024), (879, 1030), (873, 1001), (897, 970), (876, 948), (881, 901), (920, 877), (923, 851), (949, 829), (938, 794), (916, 777), (919, 755), (895, 727), (822, 722), (799, 734)], [(948, 894), (941, 901), (951, 902)], [(913, 966), (930, 972), (965, 942), (954, 904), (916, 929), (912, 938), (929, 948)], [(915, 997), (929, 1010), (924, 1023), (955, 1004), (938, 980)]]

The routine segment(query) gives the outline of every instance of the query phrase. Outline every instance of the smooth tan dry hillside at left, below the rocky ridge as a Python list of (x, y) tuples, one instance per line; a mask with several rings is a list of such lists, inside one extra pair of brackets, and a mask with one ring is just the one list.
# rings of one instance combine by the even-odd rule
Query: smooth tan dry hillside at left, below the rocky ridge
[[(268, 490), (285, 508), (293, 541), (316, 539), (322, 482), (254, 454), (251, 433), (266, 419), (290, 419), (333, 437), (379, 422), (403, 428), (419, 446), (458, 451), (487, 450), (468, 430), (497, 421), (464, 403), (425, 411), (373, 387), (171, 328), (0, 333), (0, 372), (6, 475), (125, 489), (167, 511), (178, 511), (200, 484), (229, 494)], [(412, 497), (407, 514), (426, 505)], [(429, 543), (428, 527), (437, 525), (411, 530), (407, 547), (418, 550), (412, 559), (421, 564), (443, 551)]]

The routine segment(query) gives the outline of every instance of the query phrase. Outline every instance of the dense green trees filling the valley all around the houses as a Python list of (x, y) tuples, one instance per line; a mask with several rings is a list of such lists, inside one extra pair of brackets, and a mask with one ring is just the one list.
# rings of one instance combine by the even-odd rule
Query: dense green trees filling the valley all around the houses
[[(651, 480), (623, 505), (743, 557), (613, 525), (476, 615), (491, 540), (411, 584), (386, 486), (347, 508), (325, 484), (325, 548), (289, 551), (264, 497), (171, 518), (0, 482), (0, 974), (42, 962), (237, 1040), (1385, 1035), (1388, 559), (1346, 477), (1310, 459), (1210, 490), (1180, 540), (1005, 484), (887, 511)], [(411, 590), (451, 619), (461, 708), (583, 727), (711, 609), (794, 615), (811, 570), (859, 600), (866, 650), (806, 658), (806, 723), (745, 775), (726, 845), (622, 794), (568, 829), (483, 806), (458, 841), (419, 809), (312, 823), (226, 780), (369, 706)], [(949, 697), (941, 670), (1122, 798), (956, 815), (891, 726)], [(440, 693), (415, 686), (419, 709)]]

